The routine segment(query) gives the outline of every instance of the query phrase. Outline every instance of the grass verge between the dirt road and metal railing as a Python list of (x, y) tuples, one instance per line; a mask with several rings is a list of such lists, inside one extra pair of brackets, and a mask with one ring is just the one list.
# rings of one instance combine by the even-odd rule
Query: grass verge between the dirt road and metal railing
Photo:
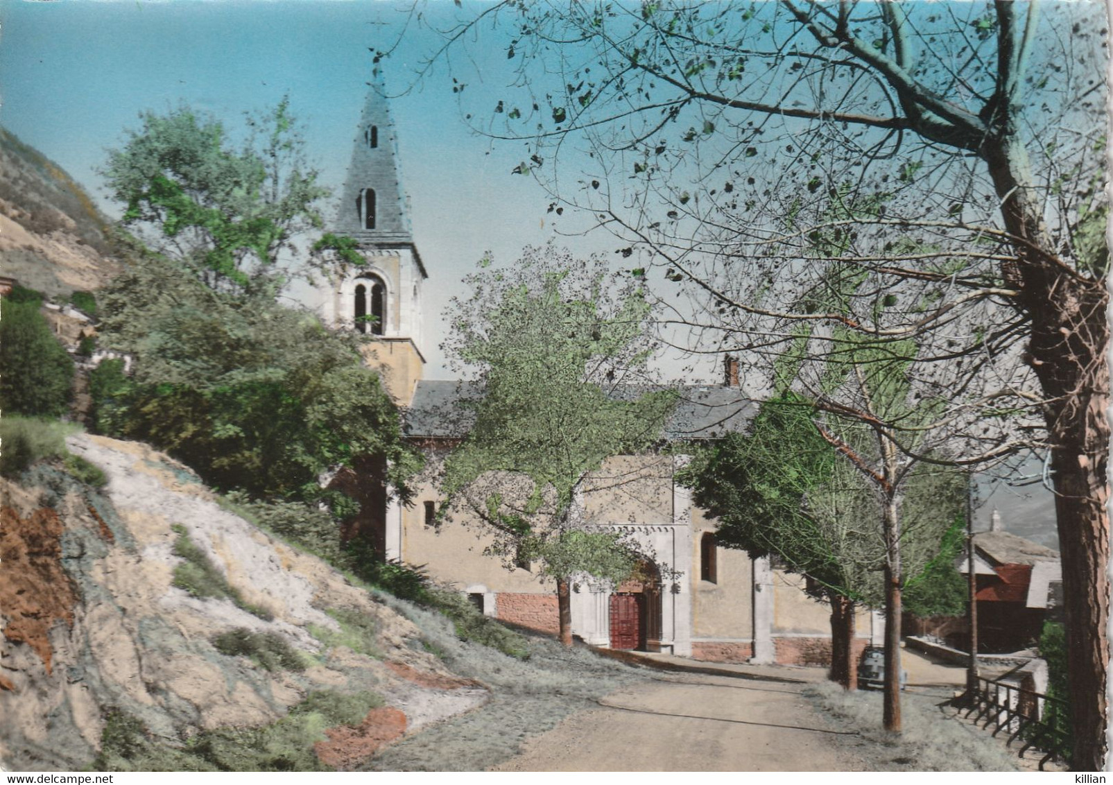
[(804, 695), (841, 730), (857, 730), (861, 742), (853, 752), (874, 772), (1015, 772), (1016, 753), (1001, 738), (975, 735), (940, 710), (943, 695), (906, 691), (902, 695), (904, 733), (881, 727), (881, 693), (847, 693), (829, 681), (808, 686)]

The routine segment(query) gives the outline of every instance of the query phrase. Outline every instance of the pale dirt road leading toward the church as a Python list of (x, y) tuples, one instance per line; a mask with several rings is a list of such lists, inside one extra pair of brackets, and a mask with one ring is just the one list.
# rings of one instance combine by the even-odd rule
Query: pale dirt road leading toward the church
[[(855, 771), (840, 740), (800, 696), (804, 683), (661, 675), (531, 738), (492, 771)], [(841, 748), (840, 748), (841, 746)]]

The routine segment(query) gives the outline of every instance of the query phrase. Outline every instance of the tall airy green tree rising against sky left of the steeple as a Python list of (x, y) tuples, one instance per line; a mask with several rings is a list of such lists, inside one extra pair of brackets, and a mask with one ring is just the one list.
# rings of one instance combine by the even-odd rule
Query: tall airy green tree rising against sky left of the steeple
[(315, 203), (328, 193), (305, 163), (288, 99), (248, 116), (239, 149), (188, 107), (140, 119), (104, 171), (124, 225), (214, 288), (273, 285), (279, 253), (321, 226)]

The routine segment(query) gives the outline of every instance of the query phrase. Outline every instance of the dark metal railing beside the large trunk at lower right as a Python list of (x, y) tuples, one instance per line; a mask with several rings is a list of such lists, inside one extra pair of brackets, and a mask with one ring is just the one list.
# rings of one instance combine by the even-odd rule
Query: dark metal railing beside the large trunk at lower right
[(977, 679), (977, 689), (964, 696), (966, 717), (975, 725), (994, 726), (993, 735), (1009, 734), (1005, 746), (1022, 743), (1020, 757), (1028, 749), (1044, 753), (1040, 769), (1052, 758), (1068, 763), (1071, 735), (1066, 729), (1068, 709), (1065, 700), (1035, 693), (995, 679)]

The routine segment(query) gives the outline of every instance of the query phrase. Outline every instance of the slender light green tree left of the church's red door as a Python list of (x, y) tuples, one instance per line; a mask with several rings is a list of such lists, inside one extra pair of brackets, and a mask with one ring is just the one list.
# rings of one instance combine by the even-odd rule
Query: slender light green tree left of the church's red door
[(674, 405), (668, 391), (614, 394), (651, 354), (649, 304), (634, 282), (551, 247), (465, 284), (473, 296), (454, 302), (446, 349), (475, 370), (483, 396), (442, 487), (449, 504), (470, 508), (555, 580), (571, 646), (575, 576), (621, 581), (638, 565), (631, 542), (585, 523), (578, 492), (607, 458), (651, 447)]

